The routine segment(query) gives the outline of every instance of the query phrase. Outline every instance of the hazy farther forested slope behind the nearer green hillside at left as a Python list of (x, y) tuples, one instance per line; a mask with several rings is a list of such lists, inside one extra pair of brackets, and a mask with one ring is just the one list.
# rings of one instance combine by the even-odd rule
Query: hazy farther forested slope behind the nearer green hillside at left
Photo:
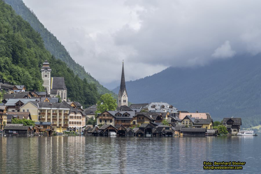
[(48, 51), (56, 58), (64, 61), (70, 69), (72, 69), (75, 74), (77, 74), (81, 79), (86, 78), (90, 83), (94, 83), (97, 86), (98, 92), (100, 94), (111, 93), (114, 96), (113, 92), (103, 87), (95, 78), (93, 78), (90, 73), (86, 72), (84, 67), (76, 63), (65, 49), (65, 47), (57, 40), (57, 38), (50, 33), (47, 28), (38, 20), (33, 11), (30, 11), (29, 8), (25, 6), (22, 0), (5, 0), (6, 3), (12, 6), (18, 15), (20, 15), (24, 20), (28, 21), (32, 28), (41, 34), (41, 37), (44, 40), (44, 45)]

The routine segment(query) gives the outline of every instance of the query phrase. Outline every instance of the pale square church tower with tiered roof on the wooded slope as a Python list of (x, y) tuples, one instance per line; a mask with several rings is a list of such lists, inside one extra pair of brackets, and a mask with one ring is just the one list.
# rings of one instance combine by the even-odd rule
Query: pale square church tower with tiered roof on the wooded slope
[(45, 60), (43, 63), (43, 67), (41, 68), (42, 79), (44, 81), (43, 86), (44, 88), (46, 88), (48, 94), (50, 94), (51, 91), (51, 71), (52, 71), (49, 65), (50, 64), (48, 63), (48, 61)]

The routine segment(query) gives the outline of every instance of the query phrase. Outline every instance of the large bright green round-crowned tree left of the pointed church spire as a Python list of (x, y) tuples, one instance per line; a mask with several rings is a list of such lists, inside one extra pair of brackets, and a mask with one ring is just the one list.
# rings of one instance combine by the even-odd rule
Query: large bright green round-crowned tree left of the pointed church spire
[(102, 113), (105, 110), (113, 111), (117, 107), (117, 101), (115, 98), (111, 96), (111, 94), (103, 94), (99, 101), (97, 102), (97, 111), (95, 116), (97, 116), (97, 113)]

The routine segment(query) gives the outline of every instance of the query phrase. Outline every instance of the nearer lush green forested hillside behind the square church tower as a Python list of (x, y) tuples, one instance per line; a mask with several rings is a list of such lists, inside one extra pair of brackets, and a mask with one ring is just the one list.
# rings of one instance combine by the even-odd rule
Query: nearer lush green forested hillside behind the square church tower
[(84, 106), (96, 103), (99, 94), (93, 83), (75, 75), (45, 49), (41, 35), (17, 15), (12, 7), (0, 1), (0, 78), (12, 84), (26, 85), (27, 90), (43, 90), (40, 69), (45, 59), (51, 75), (64, 77), (68, 98)]

